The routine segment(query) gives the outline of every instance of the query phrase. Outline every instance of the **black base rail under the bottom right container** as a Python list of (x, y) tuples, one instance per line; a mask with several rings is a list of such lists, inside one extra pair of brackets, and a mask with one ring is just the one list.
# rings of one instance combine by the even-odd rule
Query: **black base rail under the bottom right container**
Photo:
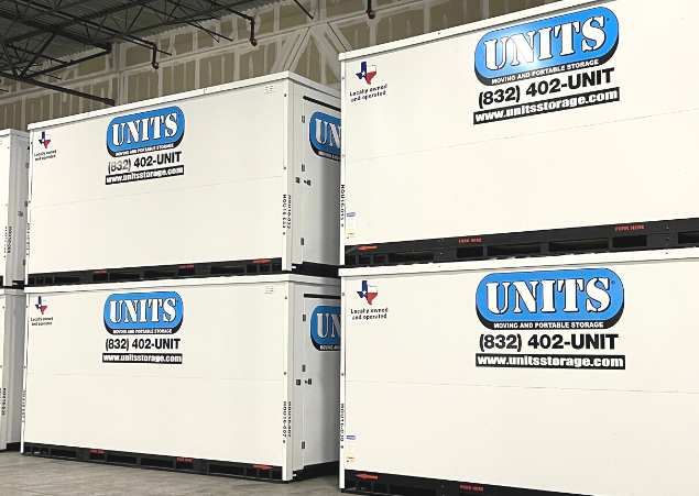
[(395, 496), (577, 496), (570, 493), (521, 489), (472, 482), (440, 481), (350, 470), (345, 470), (345, 489), (342, 493)]

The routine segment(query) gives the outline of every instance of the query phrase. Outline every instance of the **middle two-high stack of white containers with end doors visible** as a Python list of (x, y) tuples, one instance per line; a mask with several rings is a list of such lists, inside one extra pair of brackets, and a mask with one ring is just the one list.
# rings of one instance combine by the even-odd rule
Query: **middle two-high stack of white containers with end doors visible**
[(25, 454), (337, 470), (338, 104), (281, 74), (32, 126)]

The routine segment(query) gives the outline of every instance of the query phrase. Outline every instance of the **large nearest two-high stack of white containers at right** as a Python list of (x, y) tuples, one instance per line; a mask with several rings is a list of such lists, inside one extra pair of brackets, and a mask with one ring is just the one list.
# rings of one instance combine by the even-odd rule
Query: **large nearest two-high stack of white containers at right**
[(570, 0), (341, 57), (343, 491), (696, 491), (698, 14)]

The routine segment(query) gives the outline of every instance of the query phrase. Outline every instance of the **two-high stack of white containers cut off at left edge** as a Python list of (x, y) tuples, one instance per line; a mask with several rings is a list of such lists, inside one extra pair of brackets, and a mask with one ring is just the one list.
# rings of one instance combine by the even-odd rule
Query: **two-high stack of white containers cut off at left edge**
[(0, 131), (0, 178), (6, 222), (0, 267), (0, 450), (7, 450), (19, 448), (21, 434), (29, 134)]

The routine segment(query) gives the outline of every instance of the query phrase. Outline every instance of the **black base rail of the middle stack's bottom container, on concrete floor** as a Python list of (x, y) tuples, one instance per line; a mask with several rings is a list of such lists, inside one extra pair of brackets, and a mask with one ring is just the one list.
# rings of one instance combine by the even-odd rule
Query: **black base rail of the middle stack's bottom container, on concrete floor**
[[(24, 443), (25, 456), (41, 456), (59, 460), (76, 460), (88, 463), (122, 465), (139, 469), (185, 472), (190, 474), (217, 475), (248, 478), (274, 483), (282, 481), (282, 467), (265, 464), (222, 462), (218, 460), (193, 459), (188, 456), (166, 456), (157, 454), (129, 453), (123, 451), (92, 448), (58, 447), (52, 444)], [(319, 463), (294, 471), (294, 481), (337, 474), (339, 462)]]

